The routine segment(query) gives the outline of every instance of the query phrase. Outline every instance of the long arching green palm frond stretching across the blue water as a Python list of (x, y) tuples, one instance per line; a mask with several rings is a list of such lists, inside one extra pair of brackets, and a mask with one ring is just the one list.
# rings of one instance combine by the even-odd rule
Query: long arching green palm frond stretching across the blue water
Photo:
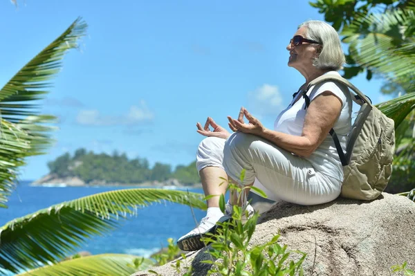
[(0, 268), (17, 273), (62, 259), (95, 234), (117, 226), (149, 203), (169, 201), (205, 209), (202, 195), (160, 189), (103, 192), (53, 205), (0, 228)]

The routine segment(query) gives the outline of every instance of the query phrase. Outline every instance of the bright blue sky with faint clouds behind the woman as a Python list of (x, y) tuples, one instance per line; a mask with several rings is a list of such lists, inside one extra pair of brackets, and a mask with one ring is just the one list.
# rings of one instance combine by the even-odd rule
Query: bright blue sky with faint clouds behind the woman
[[(88, 35), (43, 102), (59, 118), (57, 142), (28, 159), (21, 179), (80, 147), (187, 165), (203, 138), (196, 122), (211, 116), (228, 127), (241, 106), (272, 128), (304, 83), (286, 65), (286, 45), (303, 21), (324, 19), (305, 0), (2, 0), (0, 86), (79, 16)], [(387, 100), (381, 80), (351, 81), (374, 103)]]

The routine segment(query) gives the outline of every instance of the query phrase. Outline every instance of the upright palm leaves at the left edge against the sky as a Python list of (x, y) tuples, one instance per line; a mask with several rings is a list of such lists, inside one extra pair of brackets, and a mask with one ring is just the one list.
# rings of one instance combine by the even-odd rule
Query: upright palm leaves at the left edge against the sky
[(15, 187), (18, 168), (24, 158), (43, 154), (53, 142), (50, 124), (53, 116), (37, 115), (34, 100), (44, 98), (50, 80), (62, 67), (62, 58), (85, 34), (86, 24), (77, 19), (54, 42), (36, 55), (0, 90), (0, 208), (6, 208)]

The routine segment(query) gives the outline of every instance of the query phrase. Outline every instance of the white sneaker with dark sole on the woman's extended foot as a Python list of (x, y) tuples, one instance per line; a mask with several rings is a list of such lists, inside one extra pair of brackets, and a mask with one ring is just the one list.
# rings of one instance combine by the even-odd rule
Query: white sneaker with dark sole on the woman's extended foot
[(228, 220), (227, 215), (223, 217), (204, 217), (198, 227), (178, 239), (178, 248), (184, 251), (201, 250), (205, 247), (205, 243), (201, 241), (201, 238), (208, 237), (208, 233), (214, 233), (216, 230), (216, 222), (226, 220)]

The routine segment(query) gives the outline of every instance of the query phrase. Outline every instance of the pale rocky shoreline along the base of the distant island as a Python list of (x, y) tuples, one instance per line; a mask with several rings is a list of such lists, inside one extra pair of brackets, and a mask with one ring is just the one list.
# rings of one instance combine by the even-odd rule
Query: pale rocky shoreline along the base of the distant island
[(79, 177), (68, 176), (59, 177), (57, 174), (47, 174), (37, 181), (30, 184), (31, 186), (46, 187), (82, 187), (82, 186), (140, 186), (140, 187), (202, 187), (201, 183), (183, 184), (177, 179), (168, 179), (167, 181), (146, 181), (143, 183), (107, 183), (107, 181), (94, 180), (86, 183)]

